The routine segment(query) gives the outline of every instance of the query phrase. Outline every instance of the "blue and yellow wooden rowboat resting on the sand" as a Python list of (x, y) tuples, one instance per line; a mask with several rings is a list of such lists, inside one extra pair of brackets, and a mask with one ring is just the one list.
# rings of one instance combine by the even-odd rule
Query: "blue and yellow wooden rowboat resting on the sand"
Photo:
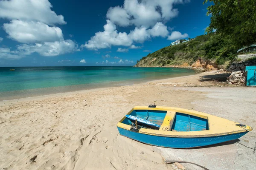
[(236, 124), (207, 113), (151, 105), (134, 107), (116, 126), (122, 136), (145, 144), (189, 148), (235, 140), (252, 130)]

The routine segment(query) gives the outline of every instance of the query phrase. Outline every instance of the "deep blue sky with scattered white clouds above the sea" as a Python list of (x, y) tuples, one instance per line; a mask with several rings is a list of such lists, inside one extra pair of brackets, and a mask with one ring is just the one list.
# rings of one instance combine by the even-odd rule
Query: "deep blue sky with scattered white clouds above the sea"
[(0, 66), (135, 65), (204, 34), (201, 0), (0, 0)]

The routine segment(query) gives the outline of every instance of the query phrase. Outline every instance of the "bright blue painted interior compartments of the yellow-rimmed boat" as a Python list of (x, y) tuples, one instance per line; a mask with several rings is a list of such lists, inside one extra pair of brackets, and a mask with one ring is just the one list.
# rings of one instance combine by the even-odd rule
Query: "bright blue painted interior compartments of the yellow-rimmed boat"
[[(130, 113), (131, 116), (137, 116), (141, 119), (148, 120), (154, 124), (162, 125), (167, 111), (155, 111), (155, 110), (134, 110)], [(172, 121), (172, 120), (171, 120)], [(126, 125), (132, 125), (134, 120), (125, 118), (122, 123)], [(201, 117), (192, 116), (185, 113), (175, 113), (175, 117), (171, 124), (171, 131), (199, 131), (199, 130), (209, 130), (209, 124), (207, 119)], [(138, 122), (138, 129), (140, 128), (150, 128), (159, 129), (158, 127), (151, 127), (143, 123)]]

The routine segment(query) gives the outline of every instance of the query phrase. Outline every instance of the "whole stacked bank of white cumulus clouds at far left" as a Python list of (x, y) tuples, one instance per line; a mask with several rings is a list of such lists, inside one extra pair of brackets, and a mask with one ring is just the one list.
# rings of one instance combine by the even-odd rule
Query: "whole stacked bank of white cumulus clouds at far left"
[(2, 50), (1, 58), (19, 59), (33, 53), (57, 56), (80, 51), (76, 42), (64, 40), (61, 28), (54, 26), (66, 22), (51, 8), (48, 0), (1, 0), (0, 18), (11, 20), (3, 24), (3, 29), (10, 39), (23, 43), (15, 51)]

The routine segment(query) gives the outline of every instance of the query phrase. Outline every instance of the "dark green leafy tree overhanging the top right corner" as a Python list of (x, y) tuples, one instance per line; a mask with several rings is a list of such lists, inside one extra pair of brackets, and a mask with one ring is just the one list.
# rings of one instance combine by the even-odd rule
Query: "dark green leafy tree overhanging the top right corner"
[(256, 42), (256, 0), (204, 0), (213, 2), (207, 15), (211, 23), (207, 32), (229, 36), (237, 48)]

